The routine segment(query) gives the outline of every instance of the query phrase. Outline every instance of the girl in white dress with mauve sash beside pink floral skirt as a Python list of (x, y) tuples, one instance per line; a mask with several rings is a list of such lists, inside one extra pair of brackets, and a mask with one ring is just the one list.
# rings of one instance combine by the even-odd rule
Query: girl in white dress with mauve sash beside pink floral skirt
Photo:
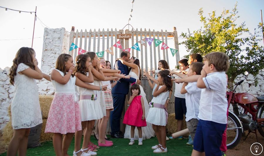
[[(92, 69), (93, 66), (89, 55), (80, 54), (76, 57), (75, 76), (91, 85), (91, 87), (77, 87), (80, 94), (79, 108), (81, 112), (82, 130), (75, 133), (75, 150), (73, 151), (73, 155), (78, 155), (78, 152), (82, 152), (82, 155), (97, 155), (95, 152), (97, 150), (94, 148), (95, 145), (91, 142), (90, 137), (94, 128), (94, 121), (101, 119), (103, 113), (97, 99), (97, 94), (94, 94), (93, 90), (106, 90), (107, 85), (100, 87), (94, 85)], [(84, 139), (82, 148), (80, 148), (83, 131)]]

